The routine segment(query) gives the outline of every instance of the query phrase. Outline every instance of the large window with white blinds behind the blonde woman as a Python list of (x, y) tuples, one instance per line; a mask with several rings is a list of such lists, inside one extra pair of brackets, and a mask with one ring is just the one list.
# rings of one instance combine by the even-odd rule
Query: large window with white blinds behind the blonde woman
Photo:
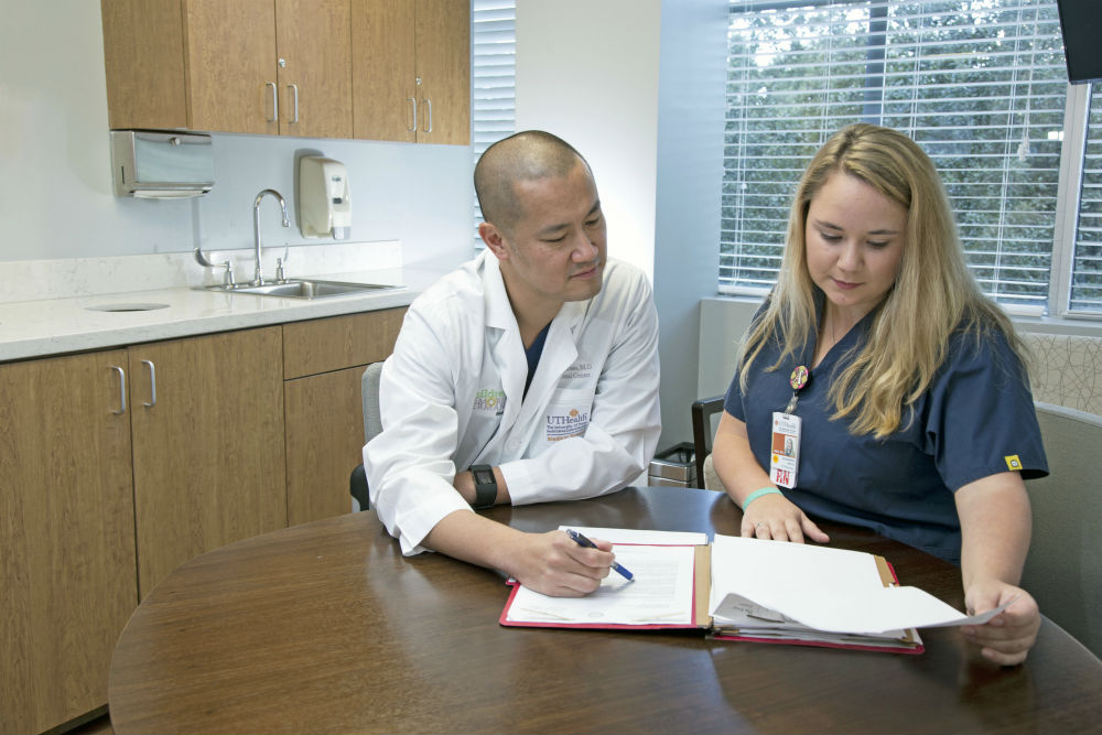
[[(1068, 85), (1055, 0), (731, 0), (726, 94), (722, 293), (775, 282), (803, 167), (866, 121), (933, 160), (985, 292), (1018, 313), (1102, 314), (1102, 102)], [(1069, 104), (1087, 97), (1089, 139)], [(1074, 141), (1087, 153), (1069, 166)]]

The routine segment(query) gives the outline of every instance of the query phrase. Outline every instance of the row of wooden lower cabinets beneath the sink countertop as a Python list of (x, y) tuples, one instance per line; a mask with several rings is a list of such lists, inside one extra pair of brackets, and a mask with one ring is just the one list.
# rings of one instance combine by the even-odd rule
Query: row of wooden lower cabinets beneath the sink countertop
[(106, 704), (115, 641), (177, 565), (350, 511), (360, 377), (404, 312), (0, 365), (0, 732)]

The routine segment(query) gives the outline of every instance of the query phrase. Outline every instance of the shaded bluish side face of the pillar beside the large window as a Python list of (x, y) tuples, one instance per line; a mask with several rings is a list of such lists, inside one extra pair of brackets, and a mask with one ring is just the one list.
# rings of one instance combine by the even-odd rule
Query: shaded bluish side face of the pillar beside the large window
[(662, 447), (691, 441), (690, 407), (706, 396), (700, 304), (715, 295), (720, 266), (726, 55), (724, 0), (665, 0), (655, 253)]

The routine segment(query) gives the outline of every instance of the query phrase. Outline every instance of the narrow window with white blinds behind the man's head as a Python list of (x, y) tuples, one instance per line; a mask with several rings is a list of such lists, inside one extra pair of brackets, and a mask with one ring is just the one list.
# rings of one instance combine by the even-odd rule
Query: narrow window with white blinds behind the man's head
[[(474, 163), (493, 143), (516, 130), (517, 11), (514, 0), (474, 0), (472, 3), (471, 148)], [(474, 201), (474, 244), (482, 223)]]

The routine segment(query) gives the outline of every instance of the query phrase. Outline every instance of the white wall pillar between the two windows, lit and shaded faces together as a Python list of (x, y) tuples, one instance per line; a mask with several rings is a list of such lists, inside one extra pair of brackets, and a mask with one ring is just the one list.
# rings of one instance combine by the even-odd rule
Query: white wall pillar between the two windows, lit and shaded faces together
[(699, 302), (715, 294), (724, 0), (561, 0), (517, 8), (517, 129), (590, 161), (608, 250), (650, 274), (660, 322), (660, 448), (691, 439)]

